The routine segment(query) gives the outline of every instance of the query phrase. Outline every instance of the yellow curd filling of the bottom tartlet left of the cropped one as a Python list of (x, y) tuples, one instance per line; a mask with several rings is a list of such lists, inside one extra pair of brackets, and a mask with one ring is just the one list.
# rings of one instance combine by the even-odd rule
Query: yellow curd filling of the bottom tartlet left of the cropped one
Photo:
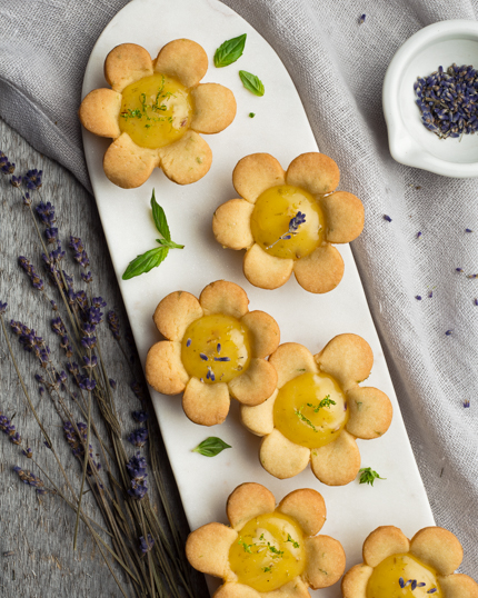
[(229, 550), (229, 565), (257, 591), (280, 588), (306, 567), (302, 531), (295, 519), (280, 512), (260, 515), (245, 525)]

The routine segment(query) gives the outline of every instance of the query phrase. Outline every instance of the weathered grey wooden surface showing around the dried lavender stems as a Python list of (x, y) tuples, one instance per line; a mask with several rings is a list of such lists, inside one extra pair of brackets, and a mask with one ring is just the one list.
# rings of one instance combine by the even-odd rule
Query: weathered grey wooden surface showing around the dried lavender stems
[[(94, 276), (93, 296), (100, 295), (107, 301), (108, 307), (103, 310), (104, 313), (109, 309), (117, 311), (122, 333), (125, 333), (127, 317), (93, 198), (68, 171), (34, 151), (1, 120), (0, 150), (9, 157), (10, 161), (16, 162), (16, 175), (24, 173), (31, 168), (43, 170), (41, 198), (43, 201), (51, 201), (57, 208), (57, 226), (63, 249), (68, 245), (70, 235), (81, 237), (90, 256), (91, 270)], [(58, 359), (60, 358), (58, 337), (50, 331), (50, 320), (53, 317), (51, 308), (41, 299), (38, 291), (31, 288), (28, 278), (18, 266), (18, 257), (26, 256), (41, 272), (42, 278), (46, 278), (31, 217), (23, 208), (17, 190), (9, 186), (9, 177), (0, 176), (0, 300), (8, 302), (6, 320), (20, 320), (30, 328), (34, 328), (47, 339), (52, 356)], [(33, 197), (37, 202), (39, 196)], [(79, 267), (69, 257), (66, 263), (68, 265), (66, 270), (74, 275), (78, 283), (80, 281)], [(48, 292), (54, 296), (51, 288), (48, 288)], [(58, 300), (57, 297), (54, 299)], [(37, 363), (31, 355), (21, 350), (12, 335), (9, 338), (13, 343), (21, 375), (31, 392), (33, 405), (58, 448), (70, 479), (78, 489), (80, 467), (71, 457), (70, 449), (63, 439), (61, 421), (52, 409), (50, 399), (47, 393), (43, 397), (39, 395), (38, 385), (33, 378), (38, 371)], [(126, 440), (127, 435), (138, 427), (131, 418), (131, 411), (138, 409), (139, 403), (129, 388), (131, 375), (106, 325), (101, 325), (99, 338), (104, 360), (109, 365), (108, 373), (117, 381), (116, 400)], [(142, 379), (136, 350), (135, 361), (137, 377)], [(54, 472), (52, 475), (54, 482), (63, 488), (64, 485), (56, 472), (53, 458), (43, 446), (38, 425), (26, 406), (3, 335), (0, 335), (0, 411), (10, 418), (14, 416), (13, 423), (22, 438), (28, 440), (38, 461), (48, 471)], [(173, 507), (175, 519), (186, 538), (188, 526), (156, 421), (153, 422), (153, 438), (159, 446), (161, 470)], [(92, 443), (94, 446), (94, 441)], [(128, 442), (126, 445), (128, 446)], [(132, 455), (135, 448), (130, 445), (129, 447), (127, 450)], [(33, 488), (19, 481), (12, 471), (16, 465), (39, 474), (33, 464), (21, 455), (21, 449), (10, 443), (7, 436), (0, 433), (0, 595), (2, 598), (120, 596), (116, 581), (82, 525), (78, 549), (73, 552), (74, 514), (59, 497), (47, 495), (39, 499)], [(92, 501), (88, 495), (84, 496), (83, 506), (87, 512), (101, 522), (96, 510), (91, 508)], [(125, 584), (125, 576), (118, 568), (114, 570)], [(195, 579), (196, 584), (202, 588), (201, 596), (209, 596), (203, 579), (199, 577)]]

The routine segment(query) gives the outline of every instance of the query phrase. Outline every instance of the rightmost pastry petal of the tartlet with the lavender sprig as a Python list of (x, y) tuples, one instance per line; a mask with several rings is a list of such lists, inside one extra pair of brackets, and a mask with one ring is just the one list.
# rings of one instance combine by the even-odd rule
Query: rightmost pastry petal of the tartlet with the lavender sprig
[(331, 243), (349, 243), (364, 230), (364, 205), (347, 191), (337, 191), (321, 199), (326, 216), (326, 239)]

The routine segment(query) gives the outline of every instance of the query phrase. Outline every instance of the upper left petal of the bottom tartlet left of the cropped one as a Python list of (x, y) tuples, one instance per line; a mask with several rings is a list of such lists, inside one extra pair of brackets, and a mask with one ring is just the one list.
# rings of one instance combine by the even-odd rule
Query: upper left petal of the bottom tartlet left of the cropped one
[(260, 484), (241, 484), (228, 498), (226, 512), (231, 527), (240, 530), (259, 515), (272, 512), (276, 499), (270, 490)]

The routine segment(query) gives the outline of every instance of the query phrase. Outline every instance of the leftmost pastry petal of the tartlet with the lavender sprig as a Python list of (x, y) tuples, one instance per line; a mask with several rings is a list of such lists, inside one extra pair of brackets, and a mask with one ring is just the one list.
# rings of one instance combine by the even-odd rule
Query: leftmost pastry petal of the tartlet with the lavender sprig
[(219, 206), (212, 217), (212, 232), (222, 247), (247, 249), (253, 245), (250, 229), (252, 203), (245, 199), (231, 199)]

